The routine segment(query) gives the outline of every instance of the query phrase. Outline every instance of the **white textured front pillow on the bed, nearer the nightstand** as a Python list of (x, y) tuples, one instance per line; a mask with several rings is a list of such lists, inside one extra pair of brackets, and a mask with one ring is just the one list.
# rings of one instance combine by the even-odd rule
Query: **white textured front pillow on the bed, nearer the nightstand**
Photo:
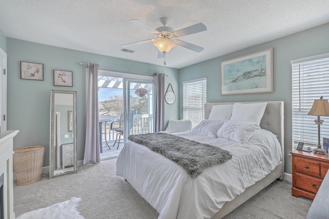
[(228, 120), (217, 131), (217, 137), (227, 138), (238, 143), (246, 143), (255, 130), (260, 129), (255, 123)]

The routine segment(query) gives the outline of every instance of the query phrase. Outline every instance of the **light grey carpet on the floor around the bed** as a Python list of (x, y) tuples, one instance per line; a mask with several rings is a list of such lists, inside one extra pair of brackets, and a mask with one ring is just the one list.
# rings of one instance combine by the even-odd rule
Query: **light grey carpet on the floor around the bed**
[[(80, 197), (77, 210), (86, 219), (134, 218), (153, 219), (158, 213), (122, 177), (115, 175), (117, 159), (78, 168), (78, 173), (57, 176), (17, 186), (14, 182), (14, 212), (45, 208)], [(245, 204), (228, 214), (235, 218), (305, 218), (312, 200), (291, 196), (291, 184), (275, 181), (253, 196)]]

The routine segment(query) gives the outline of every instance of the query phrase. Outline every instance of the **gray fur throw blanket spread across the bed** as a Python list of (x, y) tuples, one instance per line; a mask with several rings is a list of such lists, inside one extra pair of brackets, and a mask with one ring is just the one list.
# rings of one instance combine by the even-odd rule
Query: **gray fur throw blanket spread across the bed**
[(128, 139), (167, 157), (185, 169), (191, 178), (196, 178), (207, 167), (232, 158), (227, 150), (167, 133), (129, 135)]

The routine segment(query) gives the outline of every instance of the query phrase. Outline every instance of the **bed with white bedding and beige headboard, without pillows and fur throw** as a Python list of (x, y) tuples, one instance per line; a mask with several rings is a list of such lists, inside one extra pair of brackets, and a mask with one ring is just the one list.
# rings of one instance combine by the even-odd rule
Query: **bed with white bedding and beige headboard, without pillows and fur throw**
[[(264, 102), (244, 102), (243, 104), (249, 103)], [(254, 150), (252, 152), (254, 154), (258, 154), (258, 151), (263, 153), (262, 151), (265, 150), (269, 158), (264, 155), (258, 155), (262, 156), (261, 158), (252, 158), (251, 154), (244, 152), (248, 147), (242, 148), (240, 143), (228, 144), (232, 141), (203, 135), (200, 143), (215, 145), (218, 142), (224, 145), (223, 149), (232, 153), (237, 152), (237, 146), (239, 146), (242, 148), (242, 153), (240, 155), (233, 153), (231, 160), (206, 168), (199, 176), (191, 178), (181, 166), (165, 156), (143, 145), (128, 141), (118, 157), (116, 174), (124, 177), (158, 211), (159, 218), (222, 218), (277, 178), (283, 177), (283, 102), (266, 103), (260, 121), (261, 129), (257, 130), (257, 133), (264, 134), (271, 141), (277, 142), (273, 143), (277, 146), (270, 146), (273, 152), (269, 151), (269, 147), (266, 146), (264, 149), (265, 147), (261, 144), (257, 145), (258, 143), (248, 143), (246, 146)], [(209, 118), (213, 106), (233, 104), (207, 103), (205, 119)], [(193, 141), (200, 139), (198, 134), (191, 132), (176, 133), (176, 135)], [(254, 142), (256, 139), (258, 141), (258, 135), (254, 135), (251, 136), (249, 142)], [(243, 165), (259, 165), (261, 169), (266, 169), (264, 173), (257, 175), (259, 178), (247, 178), (245, 175), (250, 173), (245, 173), (247, 171), (243, 168), (237, 168), (239, 165), (243, 166), (241, 159), (246, 160), (246, 157), (250, 157), (252, 162)], [(258, 160), (263, 163), (258, 164)], [(248, 168), (254, 167), (246, 167)]]

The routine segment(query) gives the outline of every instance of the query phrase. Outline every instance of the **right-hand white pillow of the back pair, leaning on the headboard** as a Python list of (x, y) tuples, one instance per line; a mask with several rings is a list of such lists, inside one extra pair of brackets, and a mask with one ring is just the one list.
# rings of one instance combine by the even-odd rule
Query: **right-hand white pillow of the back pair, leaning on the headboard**
[(261, 124), (267, 103), (234, 103), (230, 120)]

